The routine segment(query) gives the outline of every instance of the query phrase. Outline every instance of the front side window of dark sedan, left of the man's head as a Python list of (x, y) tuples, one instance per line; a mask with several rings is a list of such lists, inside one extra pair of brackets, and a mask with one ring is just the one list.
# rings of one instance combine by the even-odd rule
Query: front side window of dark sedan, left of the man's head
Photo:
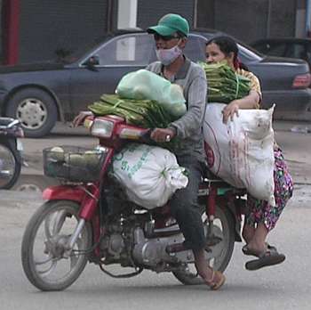
[(100, 66), (146, 66), (153, 57), (154, 42), (147, 34), (114, 37), (97, 51)]

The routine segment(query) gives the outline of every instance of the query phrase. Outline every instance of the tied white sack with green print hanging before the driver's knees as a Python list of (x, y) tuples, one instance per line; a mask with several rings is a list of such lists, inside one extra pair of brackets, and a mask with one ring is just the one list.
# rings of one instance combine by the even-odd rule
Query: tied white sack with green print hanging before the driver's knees
[(113, 159), (113, 173), (129, 200), (148, 209), (162, 207), (187, 186), (184, 172), (171, 151), (148, 144), (129, 143)]

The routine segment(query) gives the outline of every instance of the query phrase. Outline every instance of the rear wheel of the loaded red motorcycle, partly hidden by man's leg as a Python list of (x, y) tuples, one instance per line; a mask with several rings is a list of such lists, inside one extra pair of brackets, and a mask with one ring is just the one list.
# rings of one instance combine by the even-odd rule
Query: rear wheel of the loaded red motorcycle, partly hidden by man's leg
[[(203, 223), (207, 227), (206, 214), (202, 207)], [(216, 207), (214, 224), (219, 227), (215, 234), (222, 237), (216, 246), (211, 247), (208, 253), (209, 264), (215, 269), (224, 272), (232, 257), (235, 247), (235, 224), (233, 216), (227, 208)], [(219, 253), (219, 255), (217, 255)], [(216, 254), (216, 256), (214, 256)], [(194, 264), (187, 265), (184, 271), (173, 272), (174, 276), (185, 285), (203, 284), (203, 279), (196, 273)]]

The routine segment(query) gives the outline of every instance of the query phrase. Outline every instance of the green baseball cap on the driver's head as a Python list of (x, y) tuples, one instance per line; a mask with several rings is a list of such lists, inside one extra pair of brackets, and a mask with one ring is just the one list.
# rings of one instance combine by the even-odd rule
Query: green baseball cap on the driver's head
[(175, 32), (181, 32), (186, 37), (189, 34), (189, 24), (179, 14), (166, 14), (158, 21), (156, 26), (149, 27), (148, 33), (157, 33), (160, 36), (171, 36)]

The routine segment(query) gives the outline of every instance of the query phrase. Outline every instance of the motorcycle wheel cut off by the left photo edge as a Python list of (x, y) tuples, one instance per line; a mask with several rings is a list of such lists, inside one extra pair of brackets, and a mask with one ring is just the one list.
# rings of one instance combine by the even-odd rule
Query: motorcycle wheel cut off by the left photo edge
[(0, 140), (0, 189), (9, 190), (20, 176), (20, 152), (13, 149), (15, 141)]

